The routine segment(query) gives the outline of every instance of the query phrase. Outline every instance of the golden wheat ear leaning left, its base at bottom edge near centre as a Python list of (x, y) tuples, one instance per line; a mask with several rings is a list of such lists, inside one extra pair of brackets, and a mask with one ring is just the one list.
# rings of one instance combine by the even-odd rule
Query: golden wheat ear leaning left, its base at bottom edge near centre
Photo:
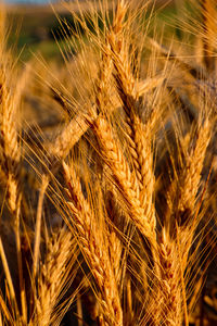
[(123, 312), (117, 290), (117, 284), (108, 256), (108, 246), (101, 238), (101, 230), (97, 225), (95, 216), (89, 203), (82, 195), (80, 181), (77, 178), (73, 166), (69, 168), (63, 162), (63, 170), (66, 184), (71, 193), (68, 202), (72, 221), (77, 230), (81, 251), (84, 252), (90, 271), (101, 291), (101, 324), (123, 325)]

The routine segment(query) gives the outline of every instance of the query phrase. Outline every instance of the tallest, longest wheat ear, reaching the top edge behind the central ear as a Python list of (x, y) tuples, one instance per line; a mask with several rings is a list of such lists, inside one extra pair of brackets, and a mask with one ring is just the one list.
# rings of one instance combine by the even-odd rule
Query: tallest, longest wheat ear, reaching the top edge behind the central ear
[[(111, 57), (114, 64), (114, 78), (118, 95), (126, 112), (126, 135), (129, 140), (129, 149), (133, 168), (139, 183), (140, 203), (145, 211), (148, 223), (155, 225), (155, 211), (153, 205), (154, 173), (153, 151), (151, 142), (152, 125), (154, 115), (146, 117), (146, 125), (143, 125), (139, 112), (142, 101), (137, 93), (137, 82), (131, 73), (128, 46), (124, 38), (124, 20), (127, 5), (124, 1), (118, 2), (113, 23), (108, 35)], [(141, 108), (145, 110), (145, 108)]]

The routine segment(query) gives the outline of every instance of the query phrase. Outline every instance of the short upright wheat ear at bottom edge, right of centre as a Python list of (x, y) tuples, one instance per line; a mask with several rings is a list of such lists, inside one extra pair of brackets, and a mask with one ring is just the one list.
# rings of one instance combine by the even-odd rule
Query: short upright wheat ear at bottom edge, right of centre
[(159, 271), (155, 278), (144, 325), (182, 325), (183, 299), (181, 293), (181, 271), (177, 239), (163, 227), (158, 237)]

